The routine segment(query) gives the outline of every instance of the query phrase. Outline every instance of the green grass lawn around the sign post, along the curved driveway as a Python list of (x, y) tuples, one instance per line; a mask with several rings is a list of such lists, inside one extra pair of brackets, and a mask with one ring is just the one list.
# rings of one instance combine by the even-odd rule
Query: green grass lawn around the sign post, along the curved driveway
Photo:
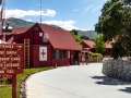
[[(16, 75), (17, 83), (21, 83), (22, 78), (29, 73), (35, 73), (41, 70), (49, 70), (50, 68), (37, 68), (37, 69), (24, 69), (23, 74)], [(20, 98), (20, 84), (16, 86), (17, 98)], [(0, 87), (0, 98), (12, 98), (12, 85), (4, 84), (4, 87)]]

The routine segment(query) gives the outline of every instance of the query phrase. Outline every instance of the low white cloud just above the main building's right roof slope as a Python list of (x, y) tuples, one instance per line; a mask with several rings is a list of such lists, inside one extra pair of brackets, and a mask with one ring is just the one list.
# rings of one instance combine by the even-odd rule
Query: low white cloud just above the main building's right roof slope
[[(57, 26), (60, 26), (60, 27), (62, 27), (63, 29), (67, 29), (67, 30), (82, 29), (82, 28), (75, 27), (74, 26), (75, 22), (72, 21), (72, 20), (63, 21), (63, 22), (62, 21), (45, 21), (43, 23), (57, 25)], [(82, 30), (87, 30), (87, 29), (82, 29)]]

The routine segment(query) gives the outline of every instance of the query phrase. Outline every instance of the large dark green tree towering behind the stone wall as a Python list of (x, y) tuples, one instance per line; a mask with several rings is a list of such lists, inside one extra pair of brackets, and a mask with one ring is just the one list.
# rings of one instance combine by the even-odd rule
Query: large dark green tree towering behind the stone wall
[[(129, 41), (131, 40), (131, 8), (126, 4), (126, 1), (128, 0), (107, 1), (102, 9), (98, 23), (95, 25), (95, 30), (104, 35), (105, 41), (115, 39), (111, 51), (114, 59), (129, 56), (131, 52)], [(118, 51), (119, 45), (124, 52)]]

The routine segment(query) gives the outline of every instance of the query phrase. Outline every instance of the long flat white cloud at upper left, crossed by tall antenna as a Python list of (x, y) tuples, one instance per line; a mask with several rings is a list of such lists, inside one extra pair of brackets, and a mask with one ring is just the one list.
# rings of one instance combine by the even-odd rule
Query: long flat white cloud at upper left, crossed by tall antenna
[[(5, 10), (5, 17), (24, 17), (24, 16), (39, 16), (40, 15), (40, 11), (34, 11), (34, 10), (28, 10), (28, 11), (24, 11), (24, 10)], [(43, 16), (55, 16), (56, 15), (56, 11), (55, 10), (50, 10), (47, 9), (46, 11), (41, 11), (41, 15)]]

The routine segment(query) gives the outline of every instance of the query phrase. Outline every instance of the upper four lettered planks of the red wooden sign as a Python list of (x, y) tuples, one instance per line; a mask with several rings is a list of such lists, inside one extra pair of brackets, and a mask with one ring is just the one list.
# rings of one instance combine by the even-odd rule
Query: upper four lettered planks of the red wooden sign
[(0, 44), (0, 69), (14, 69), (14, 68), (15, 70), (22, 69), (24, 66), (23, 62), (24, 62), (23, 45)]

